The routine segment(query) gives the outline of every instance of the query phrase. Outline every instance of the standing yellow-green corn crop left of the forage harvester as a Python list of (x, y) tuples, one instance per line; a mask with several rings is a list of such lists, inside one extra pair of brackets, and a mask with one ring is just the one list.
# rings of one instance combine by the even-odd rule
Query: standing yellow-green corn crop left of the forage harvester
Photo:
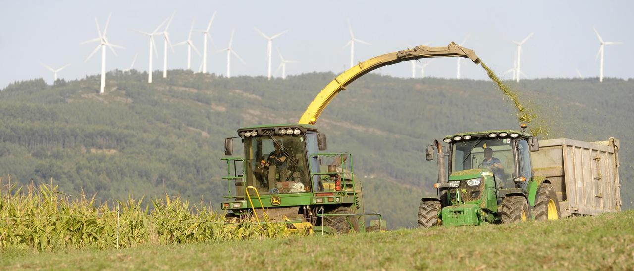
[(93, 198), (67, 196), (53, 184), (17, 187), (0, 179), (0, 251), (126, 248), (283, 236), (285, 224), (230, 223), (209, 205), (179, 198), (152, 199), (151, 206), (127, 199), (98, 205)]

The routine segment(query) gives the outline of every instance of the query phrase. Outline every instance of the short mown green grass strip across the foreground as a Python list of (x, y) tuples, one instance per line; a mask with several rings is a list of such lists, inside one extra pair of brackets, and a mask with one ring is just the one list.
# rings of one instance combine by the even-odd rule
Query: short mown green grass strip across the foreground
[(11, 249), (0, 266), (45, 269), (630, 269), (634, 211), (558, 221), (437, 227), (100, 251)]

